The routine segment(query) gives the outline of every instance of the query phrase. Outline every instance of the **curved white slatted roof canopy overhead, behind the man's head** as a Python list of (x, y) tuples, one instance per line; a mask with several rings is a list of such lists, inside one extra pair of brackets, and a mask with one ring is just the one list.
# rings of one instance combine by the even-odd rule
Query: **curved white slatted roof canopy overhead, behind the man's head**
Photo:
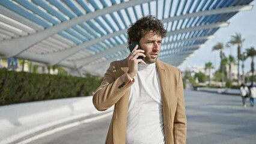
[(147, 14), (168, 30), (159, 59), (180, 65), (253, 0), (1, 0), (0, 56), (103, 75), (126, 58), (126, 31)]

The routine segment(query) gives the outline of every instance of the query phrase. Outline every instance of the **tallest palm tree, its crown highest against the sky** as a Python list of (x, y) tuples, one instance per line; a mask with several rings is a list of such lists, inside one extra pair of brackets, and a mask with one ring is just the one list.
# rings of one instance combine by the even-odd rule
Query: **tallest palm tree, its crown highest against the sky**
[(237, 45), (237, 82), (240, 85), (240, 74), (239, 74), (239, 66), (240, 66), (240, 53), (242, 48), (242, 43), (245, 41), (244, 38), (242, 38), (242, 35), (239, 33), (236, 33), (235, 35), (231, 35), (231, 40), (229, 43), (233, 45)]

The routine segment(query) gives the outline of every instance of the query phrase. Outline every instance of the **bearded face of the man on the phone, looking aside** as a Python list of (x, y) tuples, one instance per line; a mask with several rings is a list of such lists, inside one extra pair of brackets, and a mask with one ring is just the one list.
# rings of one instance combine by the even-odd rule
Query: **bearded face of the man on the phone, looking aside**
[(146, 57), (144, 58), (144, 61), (147, 64), (156, 62), (160, 53), (161, 44), (162, 37), (153, 32), (147, 32), (147, 34), (139, 40), (139, 46), (145, 51), (144, 55), (146, 55)]

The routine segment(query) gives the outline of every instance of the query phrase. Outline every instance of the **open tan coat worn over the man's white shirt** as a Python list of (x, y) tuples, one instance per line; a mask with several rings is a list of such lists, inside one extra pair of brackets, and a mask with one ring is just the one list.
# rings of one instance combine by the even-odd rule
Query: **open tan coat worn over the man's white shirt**
[[(184, 106), (183, 83), (180, 70), (164, 62), (156, 61), (162, 92), (163, 124), (166, 144), (186, 143), (186, 115)], [(126, 143), (127, 112), (130, 85), (127, 74), (127, 60), (111, 62), (100, 87), (93, 95), (97, 110), (114, 107), (106, 144)]]

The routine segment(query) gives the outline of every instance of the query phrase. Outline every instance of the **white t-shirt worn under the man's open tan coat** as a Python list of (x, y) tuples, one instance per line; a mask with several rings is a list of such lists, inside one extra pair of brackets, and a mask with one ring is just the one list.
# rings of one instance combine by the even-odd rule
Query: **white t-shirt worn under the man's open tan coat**
[(156, 64), (139, 64), (130, 88), (126, 144), (163, 144), (163, 109)]

